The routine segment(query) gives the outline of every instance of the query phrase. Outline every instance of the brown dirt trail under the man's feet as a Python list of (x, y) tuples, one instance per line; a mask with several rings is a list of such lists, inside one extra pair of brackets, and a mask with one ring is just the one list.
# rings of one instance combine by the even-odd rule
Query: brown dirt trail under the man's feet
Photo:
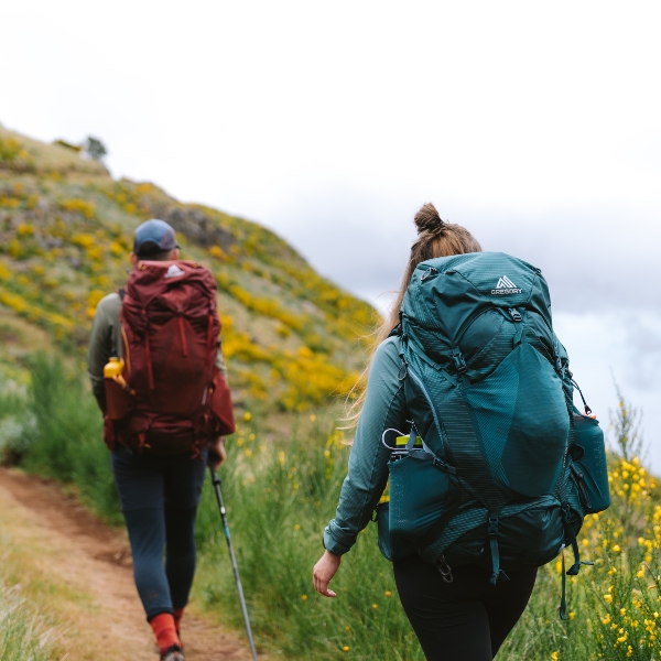
[[(4, 468), (0, 468), (0, 512), (11, 512), (13, 525), (9, 519), (0, 519), (4, 529), (26, 548), (40, 550), (37, 568), (71, 588), (72, 595), (82, 595), (73, 598), (66, 610), (65, 633), (59, 640), (67, 651), (63, 659), (158, 659), (121, 533), (54, 484)], [(182, 636), (187, 661), (251, 659), (247, 644), (235, 633), (189, 613)]]

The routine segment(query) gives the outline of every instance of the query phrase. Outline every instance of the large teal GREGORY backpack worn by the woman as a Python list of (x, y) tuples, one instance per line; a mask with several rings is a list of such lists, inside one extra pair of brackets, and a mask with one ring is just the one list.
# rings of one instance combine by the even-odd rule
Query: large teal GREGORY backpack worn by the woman
[(382, 438), (392, 448), (390, 502), (377, 510), (383, 554), (419, 553), (448, 582), (453, 566), (487, 566), (495, 585), (571, 545), (566, 573), (577, 574), (583, 518), (609, 506), (604, 434), (587, 404), (586, 415), (573, 404), (541, 271), (499, 252), (427, 260), (400, 318), (391, 335), (411, 432)]

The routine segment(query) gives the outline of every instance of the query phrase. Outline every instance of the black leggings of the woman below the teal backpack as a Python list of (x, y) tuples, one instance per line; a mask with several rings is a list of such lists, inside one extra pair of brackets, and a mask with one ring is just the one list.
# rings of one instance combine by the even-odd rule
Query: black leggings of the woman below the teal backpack
[(490, 661), (517, 624), (534, 586), (537, 568), (508, 572), (489, 584), (477, 565), (453, 570), (445, 583), (418, 555), (394, 563), (402, 606), (427, 661)]

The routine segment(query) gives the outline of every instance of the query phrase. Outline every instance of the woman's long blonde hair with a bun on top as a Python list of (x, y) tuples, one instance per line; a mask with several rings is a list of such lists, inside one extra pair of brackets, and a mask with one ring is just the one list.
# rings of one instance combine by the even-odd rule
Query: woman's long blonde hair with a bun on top
[[(465, 227), (442, 220), (436, 207), (431, 202), (423, 204), (422, 207), (420, 207), (413, 221), (418, 229), (418, 240), (411, 246), (411, 254), (404, 270), (402, 284), (397, 292), (397, 297), (390, 308), (390, 313), (373, 334), (375, 340), (371, 355), (367, 360), (367, 365), (360, 379), (351, 390), (351, 393), (349, 393), (349, 398), (356, 398), (351, 402), (347, 411), (347, 416), (345, 418), (348, 423), (347, 427), (349, 429), (356, 426), (358, 423), (358, 418), (360, 416), (360, 411), (365, 403), (367, 375), (369, 373), (375, 351), (388, 337), (389, 333), (399, 324), (399, 313), (402, 301), (404, 300), (404, 294), (407, 293), (407, 288), (409, 286), (409, 282), (411, 282), (415, 267), (420, 262), (435, 257), (449, 257), (451, 254), (465, 254), (466, 252), (481, 252), (481, 246), (475, 237)], [(360, 391), (358, 397), (356, 397), (357, 391)]]

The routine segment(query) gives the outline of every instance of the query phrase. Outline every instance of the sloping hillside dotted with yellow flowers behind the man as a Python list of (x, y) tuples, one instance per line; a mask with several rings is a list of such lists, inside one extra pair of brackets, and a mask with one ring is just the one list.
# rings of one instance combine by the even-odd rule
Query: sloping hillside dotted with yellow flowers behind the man
[(0, 127), (0, 365), (34, 346), (84, 356), (95, 306), (123, 284), (132, 231), (148, 218), (177, 231), (182, 258), (218, 284), (224, 351), (239, 403), (284, 411), (323, 404), (355, 381), (376, 321), (273, 232), (149, 183), (115, 181), (62, 143)]

